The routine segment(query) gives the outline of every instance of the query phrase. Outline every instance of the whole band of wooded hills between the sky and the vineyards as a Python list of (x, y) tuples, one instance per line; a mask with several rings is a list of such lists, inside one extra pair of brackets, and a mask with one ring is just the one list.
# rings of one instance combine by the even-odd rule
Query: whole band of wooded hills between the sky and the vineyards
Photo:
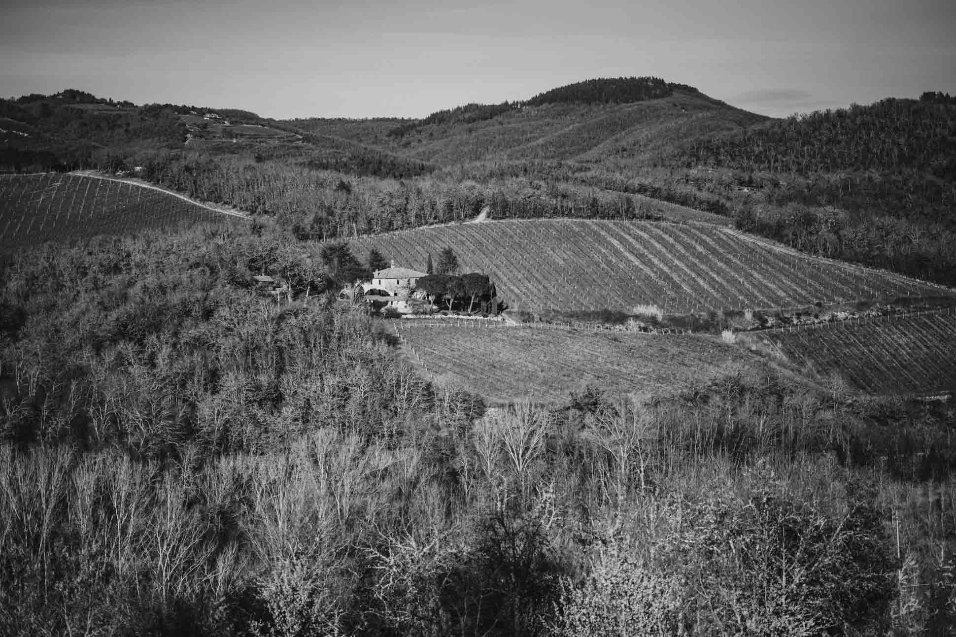
[(614, 218), (626, 200), (607, 205), (607, 193), (641, 195), (804, 253), (956, 285), (953, 109), (931, 93), (770, 121), (655, 77), (586, 80), (411, 121), (272, 121), (63, 92), (3, 101), (0, 169), (143, 165), (150, 181), (276, 216), (303, 238), (485, 208)]

